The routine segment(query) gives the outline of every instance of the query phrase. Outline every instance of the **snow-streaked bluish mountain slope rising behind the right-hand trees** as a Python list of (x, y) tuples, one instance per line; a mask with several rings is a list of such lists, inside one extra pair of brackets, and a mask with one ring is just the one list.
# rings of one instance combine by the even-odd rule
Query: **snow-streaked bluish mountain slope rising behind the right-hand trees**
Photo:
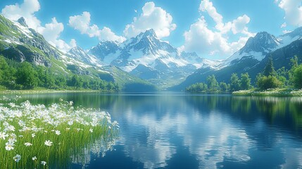
[(216, 68), (200, 68), (189, 75), (184, 82), (171, 87), (172, 90), (184, 90), (185, 87), (196, 82), (206, 82), (208, 75), (215, 75), (219, 82), (229, 82), (232, 73), (248, 73), (254, 80), (263, 71), (268, 58), (272, 57), (277, 69), (289, 69), (290, 59), (294, 56), (302, 61), (302, 27), (293, 32), (275, 37), (268, 32), (259, 32), (251, 37), (246, 45), (235, 54), (227, 58)]

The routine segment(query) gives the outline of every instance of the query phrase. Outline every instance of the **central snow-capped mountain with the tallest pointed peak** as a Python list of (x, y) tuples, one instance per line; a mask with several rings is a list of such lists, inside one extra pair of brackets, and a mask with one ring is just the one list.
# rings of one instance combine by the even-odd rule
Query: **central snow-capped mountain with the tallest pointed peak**
[(152, 29), (122, 44), (101, 42), (89, 53), (145, 80), (180, 80), (204, 65), (199, 56), (180, 54), (168, 42), (158, 39)]

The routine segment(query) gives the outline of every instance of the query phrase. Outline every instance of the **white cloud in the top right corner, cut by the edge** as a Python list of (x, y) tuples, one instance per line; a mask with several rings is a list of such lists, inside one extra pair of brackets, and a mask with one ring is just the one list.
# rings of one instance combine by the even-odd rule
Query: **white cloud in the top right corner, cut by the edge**
[(279, 8), (285, 11), (284, 20), (289, 25), (302, 26), (302, 0), (281, 0)]

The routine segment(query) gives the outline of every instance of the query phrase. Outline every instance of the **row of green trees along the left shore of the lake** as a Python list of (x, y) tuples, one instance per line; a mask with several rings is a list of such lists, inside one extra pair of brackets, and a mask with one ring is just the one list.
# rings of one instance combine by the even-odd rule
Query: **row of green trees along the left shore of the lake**
[(61, 75), (51, 68), (32, 65), (28, 62), (18, 63), (0, 56), (0, 86), (6, 89), (94, 89), (118, 91), (120, 87), (114, 82), (99, 78), (70, 74)]

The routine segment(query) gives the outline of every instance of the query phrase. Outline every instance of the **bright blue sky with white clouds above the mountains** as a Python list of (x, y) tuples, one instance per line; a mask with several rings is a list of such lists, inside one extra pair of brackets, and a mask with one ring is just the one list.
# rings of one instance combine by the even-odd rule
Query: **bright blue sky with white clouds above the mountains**
[(180, 51), (226, 58), (248, 37), (282, 35), (302, 25), (302, 0), (5, 0), (1, 14), (27, 25), (62, 51), (122, 42), (150, 28)]

